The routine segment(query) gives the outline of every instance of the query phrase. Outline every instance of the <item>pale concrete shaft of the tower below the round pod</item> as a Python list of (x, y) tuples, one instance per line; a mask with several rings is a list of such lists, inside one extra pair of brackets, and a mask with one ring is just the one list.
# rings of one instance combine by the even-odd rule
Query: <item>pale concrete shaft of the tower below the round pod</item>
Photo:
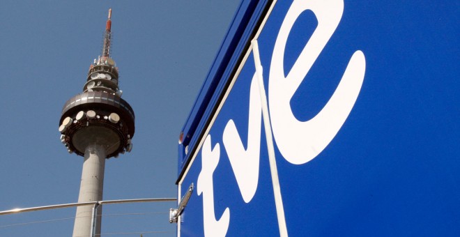
[[(84, 152), (82, 182), (78, 202), (102, 201), (102, 188), (104, 186), (106, 150), (100, 144), (90, 144)], [(91, 218), (93, 206), (77, 207), (73, 236), (91, 236)], [(95, 220), (95, 236), (100, 236), (102, 206), (98, 207), (98, 216)]]

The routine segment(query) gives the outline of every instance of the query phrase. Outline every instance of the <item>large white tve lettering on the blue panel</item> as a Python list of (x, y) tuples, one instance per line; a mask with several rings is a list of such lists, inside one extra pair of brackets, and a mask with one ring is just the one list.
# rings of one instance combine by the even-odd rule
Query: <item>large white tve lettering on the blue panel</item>
[[(318, 20), (318, 26), (292, 69), (284, 77), (284, 50), (287, 38), (293, 24), (305, 10), (312, 10)], [(293, 1), (279, 29), (269, 74), (270, 121), (273, 137), (280, 153), (284, 159), (295, 165), (309, 162), (328, 146), (342, 128), (360, 93), (366, 61), (364, 54), (358, 50), (351, 56), (344, 75), (330, 100), (314, 118), (309, 121), (298, 121), (289, 104), (314, 61), (337, 29), (343, 11), (344, 2), (342, 0)], [(250, 88), (247, 149), (241, 142), (233, 120), (227, 123), (222, 135), (238, 188), (246, 203), (254, 197), (259, 183), (262, 109), (258, 86), (256, 73), (254, 73)], [(211, 148), (210, 135), (204, 141), (201, 157), (202, 169), (197, 188), (199, 195), (203, 193), (204, 234), (206, 236), (225, 236), (229, 227), (230, 209), (225, 209), (217, 220), (214, 213), (213, 172), (220, 159), (220, 145), (217, 143), (214, 148)]]

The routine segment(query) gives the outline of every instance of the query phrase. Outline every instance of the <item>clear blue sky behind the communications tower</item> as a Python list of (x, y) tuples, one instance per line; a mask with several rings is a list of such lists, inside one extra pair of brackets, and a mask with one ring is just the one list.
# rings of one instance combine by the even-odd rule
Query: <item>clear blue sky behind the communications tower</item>
[[(2, 1), (0, 211), (77, 202), (83, 158), (59, 141), (112, 8), (112, 57), (136, 114), (131, 153), (105, 167), (104, 199), (176, 197), (177, 141), (239, 5), (233, 1)], [(176, 203), (105, 206), (102, 234), (172, 231)], [(0, 216), (0, 236), (70, 236), (75, 208)], [(122, 235), (140, 236), (140, 234)]]

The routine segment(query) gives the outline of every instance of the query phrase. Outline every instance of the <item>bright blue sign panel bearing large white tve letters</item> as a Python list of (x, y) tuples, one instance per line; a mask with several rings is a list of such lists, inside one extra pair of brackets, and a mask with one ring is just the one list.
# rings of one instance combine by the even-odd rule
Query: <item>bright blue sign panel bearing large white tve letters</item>
[(179, 235), (460, 236), (459, 3), (254, 2), (184, 128)]

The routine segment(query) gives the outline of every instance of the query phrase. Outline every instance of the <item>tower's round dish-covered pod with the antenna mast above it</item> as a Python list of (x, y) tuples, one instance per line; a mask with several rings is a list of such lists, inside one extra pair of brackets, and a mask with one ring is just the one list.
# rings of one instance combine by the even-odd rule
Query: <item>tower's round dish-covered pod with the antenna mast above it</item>
[(130, 152), (135, 134), (135, 113), (121, 98), (118, 68), (110, 57), (112, 9), (103, 40), (102, 56), (91, 64), (83, 92), (70, 98), (62, 109), (59, 132), (69, 153), (83, 156), (86, 147), (98, 144), (110, 158)]

